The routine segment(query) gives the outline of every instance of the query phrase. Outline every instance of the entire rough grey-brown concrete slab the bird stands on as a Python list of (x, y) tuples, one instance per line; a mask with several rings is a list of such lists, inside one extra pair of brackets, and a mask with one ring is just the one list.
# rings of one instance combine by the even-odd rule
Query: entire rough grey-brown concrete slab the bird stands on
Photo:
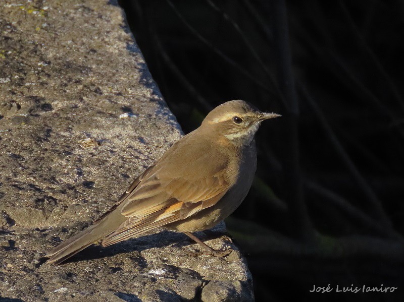
[(115, 2), (0, 3), (0, 118), (0, 300), (254, 299), (220, 233), (226, 258), (162, 231), (44, 263), (181, 136)]

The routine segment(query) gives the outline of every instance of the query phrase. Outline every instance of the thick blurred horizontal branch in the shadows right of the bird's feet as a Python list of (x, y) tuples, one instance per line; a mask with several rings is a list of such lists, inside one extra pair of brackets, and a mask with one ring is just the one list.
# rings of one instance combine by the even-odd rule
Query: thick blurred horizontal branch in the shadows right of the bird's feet
[[(404, 259), (404, 244), (402, 240), (378, 238), (367, 235), (349, 235), (332, 237), (317, 234), (318, 245), (302, 243), (293, 240), (282, 233), (265, 228), (251, 221), (231, 218), (227, 223), (241, 246), (251, 255), (250, 259), (257, 259), (259, 255), (270, 261), (268, 255), (282, 255), (285, 257), (301, 257), (304, 259), (325, 258), (339, 259), (347, 257), (377, 257), (384, 260), (399, 261)], [(246, 236), (254, 233), (254, 236)]]

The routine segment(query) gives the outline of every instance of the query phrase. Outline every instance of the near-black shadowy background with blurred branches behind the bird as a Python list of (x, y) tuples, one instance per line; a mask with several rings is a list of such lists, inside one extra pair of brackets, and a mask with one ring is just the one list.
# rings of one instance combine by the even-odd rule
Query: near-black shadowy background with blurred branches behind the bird
[[(226, 220), (257, 301), (404, 300), (404, 2), (120, 5), (185, 133), (231, 99), (283, 115)], [(351, 284), (398, 289), (335, 293)]]

